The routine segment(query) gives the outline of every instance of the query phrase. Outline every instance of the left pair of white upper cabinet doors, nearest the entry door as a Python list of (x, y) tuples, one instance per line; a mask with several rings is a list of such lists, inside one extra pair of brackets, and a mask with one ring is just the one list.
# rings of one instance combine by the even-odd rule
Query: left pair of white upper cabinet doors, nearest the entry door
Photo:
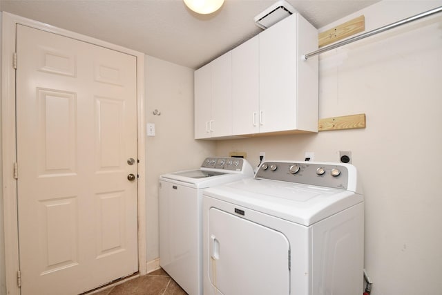
[(232, 134), (231, 52), (195, 70), (195, 139)]

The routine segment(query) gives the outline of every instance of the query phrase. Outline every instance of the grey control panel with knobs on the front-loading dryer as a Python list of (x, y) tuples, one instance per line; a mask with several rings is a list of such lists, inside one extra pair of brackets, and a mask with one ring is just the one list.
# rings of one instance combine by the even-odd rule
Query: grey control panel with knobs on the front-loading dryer
[(255, 178), (347, 189), (348, 165), (327, 162), (264, 162)]

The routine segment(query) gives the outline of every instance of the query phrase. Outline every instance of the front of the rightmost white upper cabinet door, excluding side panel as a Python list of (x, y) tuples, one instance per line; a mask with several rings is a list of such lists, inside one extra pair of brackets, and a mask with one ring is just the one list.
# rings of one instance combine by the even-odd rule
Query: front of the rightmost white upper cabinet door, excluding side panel
[(291, 15), (259, 35), (261, 133), (297, 129), (297, 19)]

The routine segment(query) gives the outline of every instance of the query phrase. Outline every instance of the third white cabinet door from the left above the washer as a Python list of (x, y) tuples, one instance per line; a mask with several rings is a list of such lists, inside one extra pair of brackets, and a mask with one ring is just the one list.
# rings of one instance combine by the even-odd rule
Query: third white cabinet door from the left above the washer
[(259, 132), (259, 39), (232, 50), (233, 135)]

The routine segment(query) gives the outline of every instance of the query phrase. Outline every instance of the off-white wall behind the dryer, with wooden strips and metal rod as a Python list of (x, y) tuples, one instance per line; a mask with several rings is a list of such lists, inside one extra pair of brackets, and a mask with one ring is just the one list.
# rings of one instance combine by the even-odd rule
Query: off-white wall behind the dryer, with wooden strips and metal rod
[[(441, 6), (383, 1), (366, 31)], [(365, 113), (367, 128), (220, 141), (217, 154), (338, 161), (352, 151), (365, 192), (365, 268), (373, 295), (441, 294), (442, 14), (320, 56), (319, 117)], [(362, 274), (361, 274), (362, 276)], [(362, 294), (362, 290), (361, 290)]]

